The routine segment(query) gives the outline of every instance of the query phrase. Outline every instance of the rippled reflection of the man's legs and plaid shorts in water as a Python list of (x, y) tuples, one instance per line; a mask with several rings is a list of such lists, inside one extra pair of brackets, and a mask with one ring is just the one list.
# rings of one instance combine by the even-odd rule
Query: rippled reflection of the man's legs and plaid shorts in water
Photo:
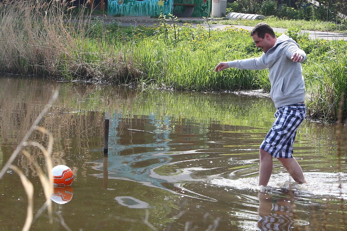
[(258, 215), (260, 219), (257, 223), (261, 231), (291, 231), (294, 228), (294, 219), (291, 207), (293, 198), (279, 198), (272, 200), (268, 193), (259, 192)]

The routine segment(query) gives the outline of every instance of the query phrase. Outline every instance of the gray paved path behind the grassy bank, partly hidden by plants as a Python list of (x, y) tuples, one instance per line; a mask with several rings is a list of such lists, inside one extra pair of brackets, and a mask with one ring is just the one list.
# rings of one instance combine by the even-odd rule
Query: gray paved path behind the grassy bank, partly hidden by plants
[[(150, 25), (153, 25), (153, 23), (157, 23), (158, 24), (158, 21), (155, 21), (155, 22), (148, 22), (148, 21), (123, 21), (123, 22), (120, 22), (120, 25), (124, 25), (124, 26), (130, 26), (130, 25), (133, 25), (133, 26), (136, 26), (136, 25), (139, 25), (139, 24), (142, 24), (142, 25), (147, 25), (147, 26), (150, 26)], [(180, 25), (183, 25), (180, 23)], [(193, 24), (193, 26), (197, 26), (198, 24)], [(212, 29), (223, 29), (227, 26), (230, 26), (230, 25), (222, 25), (222, 24), (212, 24), (211, 27)], [(243, 29), (246, 29), (246, 30), (252, 30), (253, 27), (252, 26), (240, 26), (240, 25), (233, 25), (234, 27), (237, 27), (237, 28), (243, 28)], [(207, 25), (206, 25), (207, 27)], [(279, 32), (279, 33), (284, 33), (286, 32), (287, 29), (283, 29), (283, 28), (273, 28), (274, 31), (276, 32)], [(302, 30), (301, 31), (302, 33), (308, 33), (308, 36), (312, 39), (316, 39), (316, 38), (324, 38), (324, 39), (327, 39), (327, 40), (333, 40), (333, 39), (337, 39), (337, 40), (341, 40), (343, 39), (344, 41), (347, 41), (347, 34), (342, 34), (342, 33), (332, 33), (332, 32), (322, 32), (322, 31), (313, 31), (313, 30)]]

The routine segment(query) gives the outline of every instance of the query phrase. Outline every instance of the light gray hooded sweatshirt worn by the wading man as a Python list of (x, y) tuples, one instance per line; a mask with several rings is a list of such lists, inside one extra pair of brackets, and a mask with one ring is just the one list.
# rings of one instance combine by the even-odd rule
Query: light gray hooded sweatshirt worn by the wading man
[(229, 68), (263, 70), (269, 69), (270, 95), (277, 108), (305, 101), (304, 77), (301, 63), (293, 62), (291, 56), (297, 52), (306, 60), (306, 53), (292, 38), (282, 34), (268, 52), (260, 57), (229, 61)]

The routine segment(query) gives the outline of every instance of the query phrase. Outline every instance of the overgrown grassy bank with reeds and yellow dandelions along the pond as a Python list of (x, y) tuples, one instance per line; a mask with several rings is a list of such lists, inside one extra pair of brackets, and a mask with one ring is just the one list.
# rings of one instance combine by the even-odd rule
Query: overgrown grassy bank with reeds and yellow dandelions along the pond
[[(64, 2), (4, 3), (0, 6), (3, 72), (132, 84), (142, 89), (232, 91), (270, 87), (266, 70), (213, 71), (220, 61), (261, 55), (249, 32), (242, 29), (178, 26), (175, 19), (167, 18), (151, 27), (120, 27), (82, 20), (83, 14), (72, 18)], [(288, 34), (308, 54), (303, 69), (310, 115), (335, 120), (340, 96), (346, 91), (346, 42), (312, 41), (298, 32), (291, 29)]]

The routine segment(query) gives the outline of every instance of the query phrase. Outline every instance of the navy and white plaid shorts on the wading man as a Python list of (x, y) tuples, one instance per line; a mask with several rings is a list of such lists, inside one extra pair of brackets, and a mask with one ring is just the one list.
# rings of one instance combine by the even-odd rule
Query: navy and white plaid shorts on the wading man
[(296, 130), (306, 117), (305, 104), (277, 108), (275, 121), (260, 148), (276, 158), (292, 158)]

